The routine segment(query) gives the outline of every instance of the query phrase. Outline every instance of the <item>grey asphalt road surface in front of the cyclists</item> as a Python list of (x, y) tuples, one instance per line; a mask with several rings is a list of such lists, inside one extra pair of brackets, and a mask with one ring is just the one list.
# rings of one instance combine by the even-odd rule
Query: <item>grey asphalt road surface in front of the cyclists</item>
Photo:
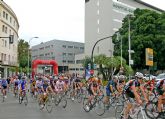
[(7, 99), (2, 103), (0, 98), (0, 119), (115, 119), (114, 109), (107, 110), (103, 116), (97, 116), (94, 111), (86, 113), (82, 104), (68, 100), (65, 109), (55, 107), (51, 113), (46, 109), (40, 110), (37, 102), (28, 97), (27, 106), (19, 104), (18, 99), (8, 93)]

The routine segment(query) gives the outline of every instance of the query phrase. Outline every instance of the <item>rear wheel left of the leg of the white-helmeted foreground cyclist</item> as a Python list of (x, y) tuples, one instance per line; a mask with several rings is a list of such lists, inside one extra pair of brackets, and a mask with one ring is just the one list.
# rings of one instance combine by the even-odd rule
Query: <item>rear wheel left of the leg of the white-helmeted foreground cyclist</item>
[(124, 115), (124, 105), (116, 105), (115, 117), (116, 119), (122, 119)]

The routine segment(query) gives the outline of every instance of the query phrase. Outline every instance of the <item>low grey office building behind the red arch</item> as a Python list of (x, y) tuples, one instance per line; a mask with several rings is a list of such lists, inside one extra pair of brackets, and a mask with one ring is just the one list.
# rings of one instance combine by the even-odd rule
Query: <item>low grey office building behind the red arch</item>
[[(68, 71), (69, 65), (75, 63), (75, 55), (84, 53), (84, 43), (51, 40), (39, 45), (33, 46), (31, 49), (32, 60), (35, 59), (54, 59), (58, 63), (59, 72)], [(51, 71), (50, 66), (46, 69)], [(45, 66), (40, 66), (38, 72), (43, 73)], [(48, 71), (48, 72), (49, 72)]]

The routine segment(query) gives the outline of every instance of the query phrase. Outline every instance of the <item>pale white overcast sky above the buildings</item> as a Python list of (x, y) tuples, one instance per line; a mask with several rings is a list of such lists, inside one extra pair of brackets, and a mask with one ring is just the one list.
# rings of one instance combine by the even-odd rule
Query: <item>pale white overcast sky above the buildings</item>
[[(85, 0), (4, 0), (16, 13), (19, 37), (31, 45), (52, 39), (84, 42)], [(165, 0), (144, 0), (165, 9)]]

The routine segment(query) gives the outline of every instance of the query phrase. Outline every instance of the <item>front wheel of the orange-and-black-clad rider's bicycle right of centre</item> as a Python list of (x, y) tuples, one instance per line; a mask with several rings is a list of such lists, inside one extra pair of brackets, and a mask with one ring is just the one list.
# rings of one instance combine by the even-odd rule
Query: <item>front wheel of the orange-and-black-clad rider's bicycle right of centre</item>
[(105, 113), (105, 105), (102, 100), (98, 100), (94, 106), (97, 115), (102, 116)]

